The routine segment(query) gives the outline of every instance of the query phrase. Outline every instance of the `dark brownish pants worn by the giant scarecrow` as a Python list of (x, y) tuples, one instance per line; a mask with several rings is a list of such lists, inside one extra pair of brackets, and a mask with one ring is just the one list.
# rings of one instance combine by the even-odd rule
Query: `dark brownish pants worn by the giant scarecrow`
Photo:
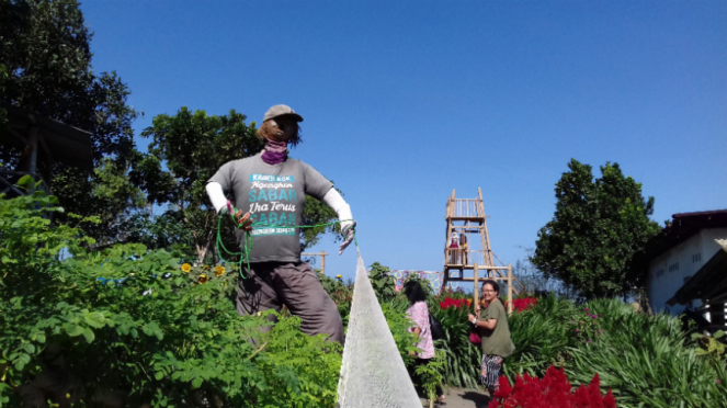
[[(343, 344), (345, 336), (338, 307), (306, 262), (258, 262), (243, 270), (238, 280), (237, 313), (241, 316), (275, 309), (283, 305), (300, 318), (300, 331), (309, 336), (328, 335)], [(270, 316), (275, 321), (274, 316)], [(270, 330), (265, 327), (263, 330)]]

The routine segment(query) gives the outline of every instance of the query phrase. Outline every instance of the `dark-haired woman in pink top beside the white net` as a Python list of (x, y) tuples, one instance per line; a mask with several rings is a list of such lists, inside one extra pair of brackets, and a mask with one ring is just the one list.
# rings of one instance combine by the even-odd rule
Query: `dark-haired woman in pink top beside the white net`
[[(434, 341), (432, 340), (432, 330), (429, 326), (429, 307), (427, 306), (427, 295), (421, 287), (421, 284), (418, 281), (409, 281), (404, 284), (404, 294), (409, 299), (409, 309), (407, 309), (407, 317), (414, 322), (414, 326), (409, 328), (410, 332), (413, 332), (419, 337), (419, 343), (417, 347), (419, 354), (417, 354), (417, 360), (414, 361), (414, 370), (419, 365), (427, 365), (434, 358)], [(413, 355), (413, 352), (412, 352)], [(414, 384), (418, 387), (421, 387), (421, 378), (417, 377), (414, 374)], [(438, 403), (444, 401), (444, 393), (442, 393), (442, 387), (436, 386), (436, 398)]]

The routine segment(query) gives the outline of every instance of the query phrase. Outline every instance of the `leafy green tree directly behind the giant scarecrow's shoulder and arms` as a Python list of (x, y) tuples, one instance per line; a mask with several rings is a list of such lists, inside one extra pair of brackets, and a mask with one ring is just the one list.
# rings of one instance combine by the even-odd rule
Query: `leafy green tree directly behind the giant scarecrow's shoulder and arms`
[[(207, 115), (182, 107), (177, 115), (158, 115), (141, 136), (150, 137), (149, 152), (132, 172), (132, 179), (147, 192), (149, 202), (168, 205), (166, 216), (183, 224), (191, 234), (198, 261), (213, 254), (218, 219), (209, 203), (207, 180), (226, 162), (250, 157), (262, 150), (264, 143), (255, 135), (254, 123), (234, 110), (228, 115)], [(306, 196), (302, 225), (317, 225), (336, 219), (336, 213)], [(224, 242), (235, 248), (230, 223), (223, 223)], [(333, 227), (302, 230), (302, 247), (317, 242)], [(180, 238), (182, 236), (179, 236)]]

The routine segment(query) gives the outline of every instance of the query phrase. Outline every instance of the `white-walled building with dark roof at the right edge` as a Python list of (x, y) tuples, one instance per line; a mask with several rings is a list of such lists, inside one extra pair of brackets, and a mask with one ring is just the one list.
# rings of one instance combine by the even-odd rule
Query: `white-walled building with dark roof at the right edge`
[[(651, 254), (647, 293), (654, 313), (667, 311), (678, 316), (686, 307), (700, 309), (703, 306), (700, 298), (681, 298), (684, 304), (672, 298), (707, 261), (723, 251), (717, 240), (727, 239), (727, 209), (674, 214), (672, 217), (672, 224), (659, 237), (659, 249)], [(727, 271), (724, 274), (727, 275)], [(724, 316), (724, 310), (722, 314)], [(706, 317), (712, 321), (708, 314)]]

